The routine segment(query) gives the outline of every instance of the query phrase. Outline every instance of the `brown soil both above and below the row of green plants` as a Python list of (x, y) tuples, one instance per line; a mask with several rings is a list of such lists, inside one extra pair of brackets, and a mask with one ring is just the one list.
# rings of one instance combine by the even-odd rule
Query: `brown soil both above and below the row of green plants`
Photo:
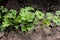
[[(57, 0), (7, 0), (0, 2), (0, 5), (4, 5), (8, 9), (16, 9), (17, 11), (25, 6), (33, 6), (44, 13), (60, 10), (60, 2)], [(35, 26), (34, 30), (29, 32), (21, 32), (20, 30), (0, 32), (0, 40), (60, 40), (60, 26), (52, 23), (50, 27), (44, 27), (42, 30), (39, 24)]]

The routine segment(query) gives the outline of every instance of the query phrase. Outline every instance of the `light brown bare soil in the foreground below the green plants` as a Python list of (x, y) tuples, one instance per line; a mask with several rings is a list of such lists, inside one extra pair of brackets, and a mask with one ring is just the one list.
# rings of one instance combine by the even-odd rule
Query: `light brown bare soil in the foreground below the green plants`
[(51, 29), (50, 27), (36, 26), (33, 31), (23, 33), (21, 31), (0, 32), (0, 40), (60, 40), (60, 27)]

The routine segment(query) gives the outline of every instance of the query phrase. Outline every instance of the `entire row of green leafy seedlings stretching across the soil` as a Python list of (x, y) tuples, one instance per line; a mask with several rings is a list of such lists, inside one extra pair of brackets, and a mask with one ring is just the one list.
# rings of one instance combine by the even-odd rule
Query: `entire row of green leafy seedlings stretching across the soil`
[[(21, 31), (30, 31), (34, 29), (38, 22), (42, 22), (43, 26), (49, 26), (51, 21), (60, 25), (60, 11), (56, 15), (51, 13), (44, 14), (42, 11), (36, 10), (33, 7), (21, 8), (19, 13), (15, 9), (8, 10), (4, 6), (0, 6), (0, 31), (6, 30), (6, 27), (14, 26), (17, 30), (19, 27)], [(57, 14), (58, 13), (58, 14)]]

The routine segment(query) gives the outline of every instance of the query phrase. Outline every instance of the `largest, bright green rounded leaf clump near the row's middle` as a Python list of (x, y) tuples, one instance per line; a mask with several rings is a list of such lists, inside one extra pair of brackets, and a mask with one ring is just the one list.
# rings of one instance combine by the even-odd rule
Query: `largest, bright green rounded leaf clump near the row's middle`
[[(27, 9), (29, 8), (29, 9)], [(27, 9), (27, 10), (26, 10)], [(25, 7), (21, 9), (20, 11), (20, 16), (22, 17), (22, 20), (27, 20), (27, 21), (32, 21), (32, 19), (34, 18), (34, 13), (30, 12), (29, 10), (33, 10), (33, 8), (31, 7)]]

